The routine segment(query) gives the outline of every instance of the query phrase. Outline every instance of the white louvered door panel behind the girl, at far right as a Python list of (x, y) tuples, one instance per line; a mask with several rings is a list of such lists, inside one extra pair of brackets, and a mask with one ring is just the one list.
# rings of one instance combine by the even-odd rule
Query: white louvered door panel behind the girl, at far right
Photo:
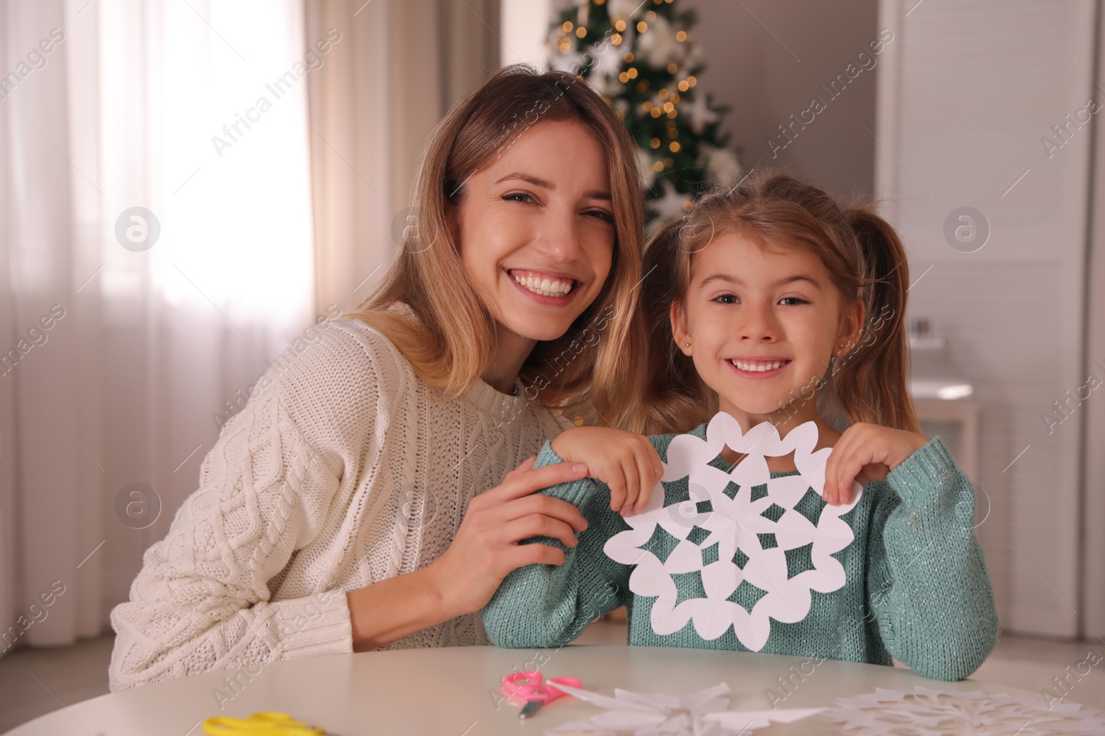
[[(983, 404), (980, 518), (990, 510), (978, 535), (1002, 628), (1074, 636), (1083, 417), (1049, 433), (1042, 416), (1085, 382), (1091, 131), (1074, 130), (1051, 157), (1041, 138), (1094, 94), (1094, 3), (883, 0), (881, 10), (897, 40), (880, 76), (876, 181), (912, 278), (932, 267), (911, 313), (948, 335)], [(990, 225), (974, 253), (944, 235), (960, 206)]]

